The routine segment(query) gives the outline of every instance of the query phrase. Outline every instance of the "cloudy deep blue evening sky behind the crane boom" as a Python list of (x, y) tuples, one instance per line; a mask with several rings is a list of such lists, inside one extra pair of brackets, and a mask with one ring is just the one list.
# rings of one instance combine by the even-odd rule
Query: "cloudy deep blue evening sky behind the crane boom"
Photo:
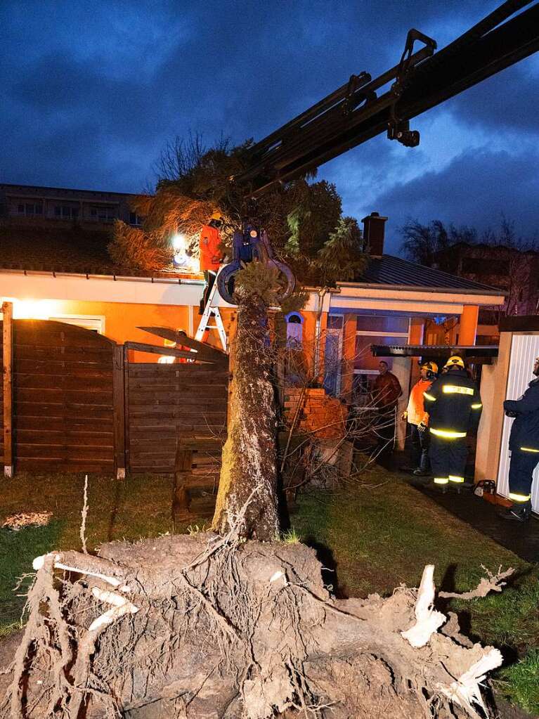
[[(0, 181), (139, 192), (167, 139), (261, 139), (347, 81), (397, 64), (407, 30), (443, 47), (501, 0), (2, 0)], [(539, 236), (539, 57), (336, 158), (344, 212)]]

